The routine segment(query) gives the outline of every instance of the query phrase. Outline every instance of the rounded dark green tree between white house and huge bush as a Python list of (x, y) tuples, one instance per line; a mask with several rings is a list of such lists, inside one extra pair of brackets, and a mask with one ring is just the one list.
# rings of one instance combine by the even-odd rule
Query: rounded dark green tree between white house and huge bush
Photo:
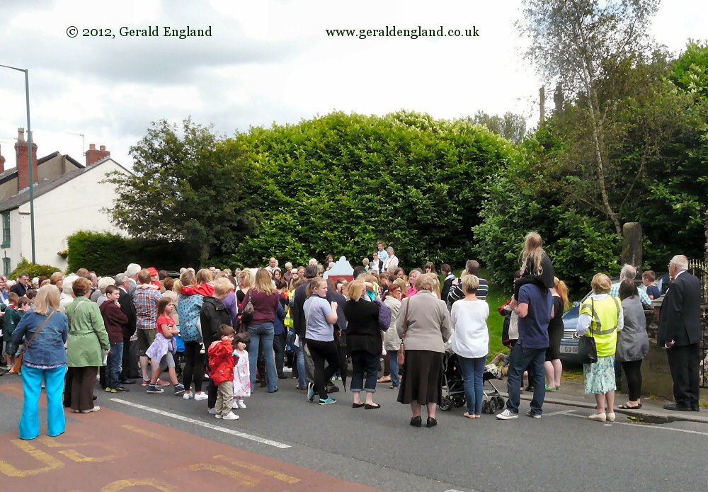
[(256, 185), (239, 153), (224, 147), (211, 127), (187, 119), (181, 128), (153, 122), (135, 146), (134, 176), (111, 176), (118, 199), (113, 222), (137, 237), (197, 246), (202, 265), (234, 251), (253, 227)]

